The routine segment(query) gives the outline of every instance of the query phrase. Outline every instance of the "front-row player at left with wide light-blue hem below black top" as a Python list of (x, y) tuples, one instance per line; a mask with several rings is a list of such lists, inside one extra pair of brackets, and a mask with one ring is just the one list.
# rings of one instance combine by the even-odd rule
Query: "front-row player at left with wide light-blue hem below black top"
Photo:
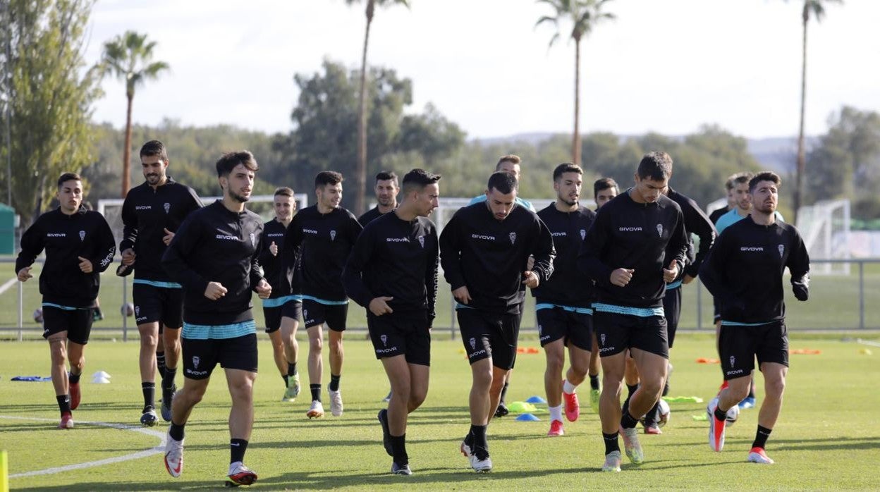
[(184, 288), (183, 388), (174, 394), (165, 441), (165, 469), (172, 477), (183, 472), (184, 426), (220, 363), (232, 399), (228, 481), (250, 485), (257, 480), (257, 474), (243, 463), (253, 429), (253, 380), (257, 376), (251, 292), (262, 299), (272, 293), (258, 261), (263, 223), (245, 208), (257, 169), (248, 151), (226, 153), (217, 160), (223, 199), (191, 213), (162, 257), (165, 271)]

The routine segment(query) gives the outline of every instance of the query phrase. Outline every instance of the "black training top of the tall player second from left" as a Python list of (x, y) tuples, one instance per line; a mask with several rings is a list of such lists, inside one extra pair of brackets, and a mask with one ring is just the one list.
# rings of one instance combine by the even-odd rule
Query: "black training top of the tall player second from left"
[(167, 282), (162, 268), (165, 253), (165, 229), (176, 232), (190, 212), (202, 208), (202, 200), (193, 188), (168, 177), (161, 187), (144, 182), (128, 190), (122, 202), (122, 240), (119, 250), (135, 248), (135, 278)]

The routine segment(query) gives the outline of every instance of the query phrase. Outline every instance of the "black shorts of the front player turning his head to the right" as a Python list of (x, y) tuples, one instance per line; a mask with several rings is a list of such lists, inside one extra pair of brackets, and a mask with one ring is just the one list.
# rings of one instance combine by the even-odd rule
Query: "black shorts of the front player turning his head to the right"
[(428, 318), (412, 319), (384, 314), (367, 316), (370, 341), (376, 358), (405, 356), (407, 363), (431, 364), (431, 334)]

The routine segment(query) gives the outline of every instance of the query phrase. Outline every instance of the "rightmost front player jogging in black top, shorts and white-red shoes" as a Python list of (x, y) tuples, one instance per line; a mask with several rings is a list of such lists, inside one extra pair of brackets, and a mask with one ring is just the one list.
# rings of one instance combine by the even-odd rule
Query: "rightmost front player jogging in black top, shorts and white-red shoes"
[(781, 180), (764, 172), (749, 181), (750, 217), (730, 225), (718, 238), (700, 268), (706, 288), (721, 308), (719, 349), (728, 386), (709, 402), (709, 447), (724, 446), (727, 412), (749, 392), (755, 357), (764, 374), (764, 401), (758, 414), (758, 432), (748, 461), (772, 464), (766, 440), (779, 418), (788, 372), (788, 331), (782, 277), (791, 272), (791, 287), (799, 301), (809, 297), (810, 256), (793, 225), (779, 221)]

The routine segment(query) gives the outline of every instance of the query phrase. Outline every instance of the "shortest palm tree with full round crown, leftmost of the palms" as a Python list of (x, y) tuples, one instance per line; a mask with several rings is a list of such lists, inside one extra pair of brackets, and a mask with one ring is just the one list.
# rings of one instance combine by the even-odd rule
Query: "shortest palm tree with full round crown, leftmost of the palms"
[(134, 31), (116, 36), (104, 43), (104, 64), (116, 77), (125, 81), (125, 97), (128, 110), (125, 118), (125, 150), (122, 151), (122, 198), (128, 193), (129, 167), (131, 159), (131, 103), (135, 99), (135, 89), (146, 80), (155, 80), (169, 69), (166, 62), (153, 62), (153, 48), (156, 41), (147, 42), (146, 34)]

